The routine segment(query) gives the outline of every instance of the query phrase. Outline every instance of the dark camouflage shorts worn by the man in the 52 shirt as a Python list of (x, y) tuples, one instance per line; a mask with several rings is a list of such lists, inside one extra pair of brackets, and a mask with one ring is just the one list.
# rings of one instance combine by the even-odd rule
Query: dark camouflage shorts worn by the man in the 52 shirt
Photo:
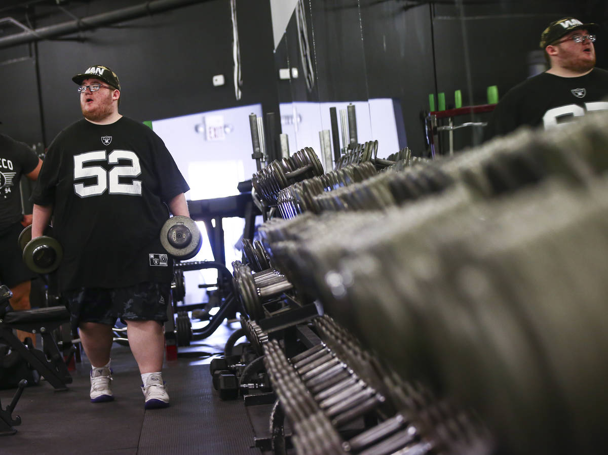
[(114, 326), (127, 321), (167, 321), (171, 284), (142, 282), (134, 286), (103, 289), (88, 287), (63, 293), (75, 329), (92, 322)]

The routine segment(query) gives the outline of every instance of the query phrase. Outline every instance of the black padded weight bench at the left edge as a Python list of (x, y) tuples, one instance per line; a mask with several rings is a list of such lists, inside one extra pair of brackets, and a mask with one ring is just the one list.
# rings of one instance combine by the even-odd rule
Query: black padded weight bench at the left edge
[[(52, 333), (61, 324), (69, 322), (70, 313), (63, 306), (13, 311), (9, 305), (11, 296), (8, 287), (0, 286), (0, 343), (18, 352), (55, 391), (67, 390), (66, 384), (72, 382), (72, 377)], [(27, 347), (19, 341), (13, 333), (15, 329), (40, 334), (43, 351)]]

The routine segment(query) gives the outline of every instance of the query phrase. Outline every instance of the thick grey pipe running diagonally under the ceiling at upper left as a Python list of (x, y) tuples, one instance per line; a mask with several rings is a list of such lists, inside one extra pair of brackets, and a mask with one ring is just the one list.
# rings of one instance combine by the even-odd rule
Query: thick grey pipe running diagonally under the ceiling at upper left
[(88, 18), (75, 19), (54, 26), (40, 27), (22, 33), (0, 38), (0, 49), (16, 46), (18, 44), (33, 43), (41, 39), (56, 38), (73, 32), (95, 29), (128, 19), (140, 18), (142, 16), (160, 13), (176, 9), (190, 4), (201, 3), (205, 0), (154, 0), (136, 6), (130, 6), (111, 12), (101, 13)]

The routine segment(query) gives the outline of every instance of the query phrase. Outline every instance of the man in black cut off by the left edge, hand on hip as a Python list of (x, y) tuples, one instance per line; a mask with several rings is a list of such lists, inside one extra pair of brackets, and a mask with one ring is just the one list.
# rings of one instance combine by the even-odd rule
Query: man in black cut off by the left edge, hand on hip
[[(0, 134), (0, 283), (13, 293), (13, 310), (30, 309), (31, 280), (36, 274), (26, 267), (21, 258), (17, 239), (22, 229), (32, 224), (32, 214), (23, 214), (21, 176), (36, 180), (42, 160), (23, 142)], [(17, 337), (27, 337), (35, 346), (36, 337), (17, 330)]]

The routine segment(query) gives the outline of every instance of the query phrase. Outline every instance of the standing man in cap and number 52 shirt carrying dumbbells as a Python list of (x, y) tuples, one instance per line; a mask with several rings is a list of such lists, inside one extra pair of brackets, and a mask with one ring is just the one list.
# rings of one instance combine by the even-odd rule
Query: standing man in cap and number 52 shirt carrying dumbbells
[(145, 408), (163, 408), (169, 397), (162, 323), (173, 262), (159, 234), (169, 211), (189, 216), (189, 188), (161, 138), (119, 114), (120, 82), (111, 69), (91, 66), (72, 80), (84, 118), (49, 146), (31, 197), (32, 236), (52, 217), (64, 253), (58, 285), (91, 361), (91, 402), (113, 399), (112, 327), (120, 318), (142, 375)]

